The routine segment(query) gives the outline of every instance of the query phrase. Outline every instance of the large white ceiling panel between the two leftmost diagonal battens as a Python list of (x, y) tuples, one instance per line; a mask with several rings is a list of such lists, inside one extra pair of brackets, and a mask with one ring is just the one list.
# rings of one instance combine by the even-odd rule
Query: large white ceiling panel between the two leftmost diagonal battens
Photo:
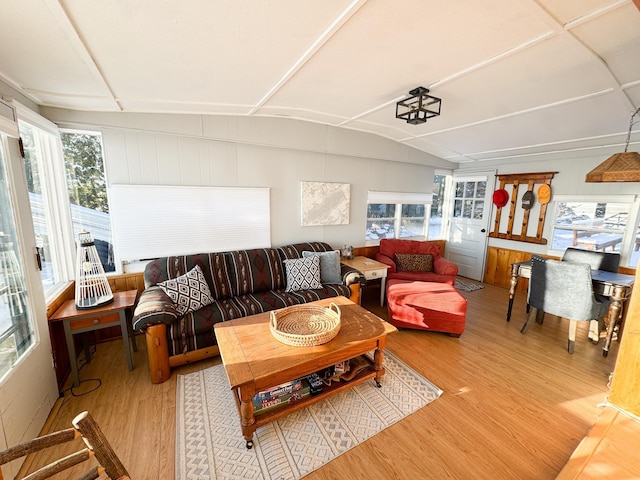
[(65, 0), (114, 93), (147, 102), (255, 105), (348, 5)]

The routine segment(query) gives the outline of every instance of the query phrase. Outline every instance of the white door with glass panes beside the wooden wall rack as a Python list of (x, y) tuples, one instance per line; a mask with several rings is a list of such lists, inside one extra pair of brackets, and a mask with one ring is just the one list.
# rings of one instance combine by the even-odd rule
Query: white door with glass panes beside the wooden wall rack
[(487, 253), (495, 171), (453, 175), (453, 212), (447, 257), (458, 275), (482, 281)]

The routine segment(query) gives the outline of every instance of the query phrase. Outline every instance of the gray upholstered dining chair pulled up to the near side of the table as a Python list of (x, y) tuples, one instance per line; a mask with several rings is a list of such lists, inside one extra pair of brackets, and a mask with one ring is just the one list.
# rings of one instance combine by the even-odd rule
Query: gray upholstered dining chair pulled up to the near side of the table
[[(593, 293), (591, 266), (588, 263), (548, 260), (537, 255), (531, 257), (527, 301), (536, 310), (569, 320), (569, 353), (573, 353), (578, 322), (591, 322), (591, 338), (594, 322), (597, 328), (598, 320), (609, 309), (609, 300)], [(527, 331), (535, 315), (531, 309), (520, 332)]]

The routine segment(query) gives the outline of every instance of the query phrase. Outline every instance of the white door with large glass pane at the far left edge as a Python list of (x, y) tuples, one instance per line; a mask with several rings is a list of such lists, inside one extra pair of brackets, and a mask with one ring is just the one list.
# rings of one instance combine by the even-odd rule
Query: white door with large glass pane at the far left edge
[[(0, 122), (0, 449), (36, 437), (58, 397), (40, 272), (26, 253), (35, 252), (35, 235), (13, 135)], [(20, 463), (3, 467), (5, 478)]]

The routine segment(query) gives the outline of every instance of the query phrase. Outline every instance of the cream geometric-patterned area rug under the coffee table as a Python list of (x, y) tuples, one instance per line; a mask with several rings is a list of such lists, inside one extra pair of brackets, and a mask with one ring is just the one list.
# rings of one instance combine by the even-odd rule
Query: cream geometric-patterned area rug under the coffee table
[(179, 375), (177, 480), (295, 480), (437, 399), (442, 390), (385, 351), (373, 380), (260, 427), (246, 448), (222, 365)]

